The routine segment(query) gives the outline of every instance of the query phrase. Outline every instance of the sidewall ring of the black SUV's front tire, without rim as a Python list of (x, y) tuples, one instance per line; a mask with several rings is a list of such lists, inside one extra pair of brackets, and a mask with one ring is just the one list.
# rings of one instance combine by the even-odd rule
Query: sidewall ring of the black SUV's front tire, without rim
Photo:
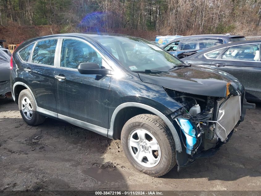
[[(149, 131), (158, 141), (158, 144), (161, 149), (161, 158), (158, 164), (154, 167), (145, 167), (142, 166), (140, 163), (138, 163), (133, 156), (131, 155), (131, 152), (128, 148), (128, 137), (130, 136), (130, 133), (137, 129), (137, 128), (143, 128), (147, 131)], [(155, 175), (158, 173), (162, 173), (167, 169), (168, 163), (169, 163), (169, 153), (167, 149), (167, 144), (163, 140), (163, 137), (161, 134), (158, 133), (158, 130), (154, 128), (152, 125), (146, 122), (141, 122), (141, 121), (135, 121), (135, 122), (130, 122), (126, 123), (123, 127), (122, 134), (121, 134), (121, 143), (123, 146), (123, 150), (125, 155), (127, 156), (128, 160), (130, 163), (139, 171), (144, 172), (149, 175)]]

